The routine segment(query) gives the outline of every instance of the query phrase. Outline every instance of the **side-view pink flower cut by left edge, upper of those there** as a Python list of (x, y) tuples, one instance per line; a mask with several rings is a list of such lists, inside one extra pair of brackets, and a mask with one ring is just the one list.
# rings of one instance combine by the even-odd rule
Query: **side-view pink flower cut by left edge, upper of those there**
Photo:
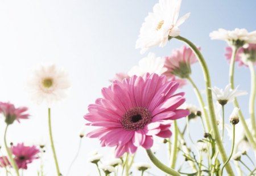
[(27, 119), (29, 114), (26, 111), (26, 107), (15, 108), (9, 102), (0, 102), (0, 113), (3, 113), (5, 116), (5, 122), (8, 125), (12, 124), (15, 120), (19, 122), (19, 119)]

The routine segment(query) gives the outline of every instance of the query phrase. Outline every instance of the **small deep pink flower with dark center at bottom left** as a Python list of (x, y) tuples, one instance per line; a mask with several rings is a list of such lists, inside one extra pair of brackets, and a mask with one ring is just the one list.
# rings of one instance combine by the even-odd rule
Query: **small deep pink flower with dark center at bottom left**
[(31, 163), (33, 160), (39, 158), (36, 154), (40, 151), (35, 145), (25, 146), (23, 143), (18, 143), (12, 148), (14, 154), (14, 160), (19, 169), (27, 169), (27, 164)]

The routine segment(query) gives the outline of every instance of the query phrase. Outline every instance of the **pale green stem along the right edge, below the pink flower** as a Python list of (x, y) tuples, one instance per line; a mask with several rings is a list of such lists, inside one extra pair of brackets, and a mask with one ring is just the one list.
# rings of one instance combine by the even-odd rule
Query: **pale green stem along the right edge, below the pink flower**
[(255, 70), (254, 70), (254, 63), (249, 62), (248, 66), (251, 72), (251, 93), (250, 93), (250, 100), (249, 100), (249, 113), (251, 117), (251, 125), (254, 129), (254, 140), (256, 140), (256, 122), (255, 122), (255, 95), (256, 95), (256, 78), (255, 78)]

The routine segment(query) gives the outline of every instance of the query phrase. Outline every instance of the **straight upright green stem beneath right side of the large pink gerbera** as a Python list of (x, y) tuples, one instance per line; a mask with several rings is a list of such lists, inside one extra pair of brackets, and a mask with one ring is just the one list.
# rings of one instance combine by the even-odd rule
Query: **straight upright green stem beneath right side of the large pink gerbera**
[(177, 160), (177, 143), (178, 143), (178, 127), (177, 122), (174, 121), (174, 133), (172, 135), (172, 149), (171, 149), (171, 168), (175, 168), (176, 160)]

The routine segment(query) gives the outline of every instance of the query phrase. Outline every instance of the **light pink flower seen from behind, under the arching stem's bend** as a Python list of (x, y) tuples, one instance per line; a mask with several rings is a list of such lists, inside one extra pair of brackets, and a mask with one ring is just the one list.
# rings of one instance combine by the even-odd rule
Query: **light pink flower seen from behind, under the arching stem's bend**
[(164, 67), (167, 71), (166, 76), (178, 76), (179, 78), (188, 78), (191, 74), (192, 63), (197, 62), (196, 55), (188, 46), (182, 46), (180, 49), (175, 49), (170, 57), (166, 57)]

